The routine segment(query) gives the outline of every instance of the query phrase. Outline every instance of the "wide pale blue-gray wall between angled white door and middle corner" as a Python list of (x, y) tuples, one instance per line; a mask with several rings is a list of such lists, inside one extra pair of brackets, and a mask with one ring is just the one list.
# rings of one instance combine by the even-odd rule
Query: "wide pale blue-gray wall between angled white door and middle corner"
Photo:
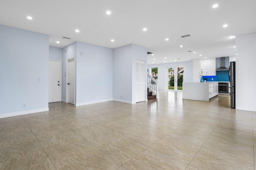
[(76, 105), (112, 99), (113, 49), (77, 41)]

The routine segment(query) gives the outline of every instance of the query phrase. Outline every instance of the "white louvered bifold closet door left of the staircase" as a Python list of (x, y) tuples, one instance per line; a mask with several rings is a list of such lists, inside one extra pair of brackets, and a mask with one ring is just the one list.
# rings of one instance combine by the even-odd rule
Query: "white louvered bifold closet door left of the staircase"
[(145, 61), (136, 60), (136, 102), (145, 101), (146, 96), (146, 70)]

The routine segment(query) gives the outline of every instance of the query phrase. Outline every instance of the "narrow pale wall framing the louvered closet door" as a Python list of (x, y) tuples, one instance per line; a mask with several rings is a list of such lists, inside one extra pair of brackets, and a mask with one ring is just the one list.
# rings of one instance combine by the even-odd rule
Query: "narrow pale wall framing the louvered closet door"
[[(145, 72), (147, 70), (148, 49), (140, 45), (132, 44), (132, 104), (136, 103), (136, 60), (145, 61)], [(147, 100), (147, 72), (145, 76), (145, 96)]]

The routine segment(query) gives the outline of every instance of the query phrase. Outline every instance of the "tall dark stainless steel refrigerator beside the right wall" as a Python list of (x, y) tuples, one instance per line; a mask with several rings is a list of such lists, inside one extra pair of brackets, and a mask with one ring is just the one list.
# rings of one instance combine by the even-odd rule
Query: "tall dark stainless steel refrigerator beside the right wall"
[(236, 108), (236, 62), (230, 62), (229, 70), (230, 81), (230, 102), (231, 108)]

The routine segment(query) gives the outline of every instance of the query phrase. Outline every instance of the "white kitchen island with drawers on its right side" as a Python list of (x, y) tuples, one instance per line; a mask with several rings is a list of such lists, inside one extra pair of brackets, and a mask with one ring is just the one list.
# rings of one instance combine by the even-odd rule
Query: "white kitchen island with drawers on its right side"
[(218, 82), (183, 82), (182, 98), (209, 101), (218, 96)]

